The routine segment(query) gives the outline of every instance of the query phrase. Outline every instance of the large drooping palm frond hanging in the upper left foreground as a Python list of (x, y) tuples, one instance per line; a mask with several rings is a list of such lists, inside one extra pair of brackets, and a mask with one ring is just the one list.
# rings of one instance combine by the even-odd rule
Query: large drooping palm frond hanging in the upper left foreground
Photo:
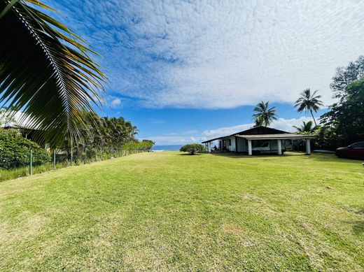
[[(34, 0), (0, 0), (0, 106), (20, 108), (39, 138), (81, 139), (83, 108), (101, 107), (106, 77), (96, 53)], [(54, 11), (54, 10), (52, 10)]]

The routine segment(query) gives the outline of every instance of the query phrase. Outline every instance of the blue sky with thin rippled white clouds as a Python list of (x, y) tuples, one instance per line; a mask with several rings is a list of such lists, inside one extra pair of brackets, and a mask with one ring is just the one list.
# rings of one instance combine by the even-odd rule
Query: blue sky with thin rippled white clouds
[[(364, 1), (47, 0), (103, 58), (102, 115), (122, 115), (141, 138), (179, 144), (251, 127), (269, 101), (292, 131), (309, 87), (332, 103), (337, 66), (364, 54)], [(321, 110), (316, 115), (323, 113)]]

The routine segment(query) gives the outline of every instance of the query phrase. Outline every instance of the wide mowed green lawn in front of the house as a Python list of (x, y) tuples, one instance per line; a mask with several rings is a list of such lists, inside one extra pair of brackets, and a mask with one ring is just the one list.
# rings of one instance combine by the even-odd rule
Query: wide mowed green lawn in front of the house
[(0, 183), (0, 271), (363, 271), (364, 168), (142, 153)]

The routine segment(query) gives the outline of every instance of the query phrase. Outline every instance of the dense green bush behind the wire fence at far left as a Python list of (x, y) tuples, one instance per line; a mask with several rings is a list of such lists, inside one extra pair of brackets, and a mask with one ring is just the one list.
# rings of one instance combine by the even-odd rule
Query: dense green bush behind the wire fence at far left
[(11, 169), (29, 164), (30, 150), (32, 150), (34, 166), (50, 162), (49, 153), (37, 143), (22, 137), (18, 130), (0, 129), (0, 169)]

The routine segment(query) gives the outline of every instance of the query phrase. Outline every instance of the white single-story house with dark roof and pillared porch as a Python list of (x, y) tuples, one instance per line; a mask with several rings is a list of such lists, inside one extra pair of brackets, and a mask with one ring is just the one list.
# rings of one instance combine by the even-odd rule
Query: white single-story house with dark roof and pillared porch
[[(203, 141), (209, 152), (246, 152), (248, 155), (264, 152), (276, 152), (282, 155), (291, 147), (292, 140), (306, 141), (306, 153), (311, 154), (311, 138), (314, 136), (293, 134), (270, 127), (253, 127), (228, 136), (213, 138)], [(212, 143), (218, 142), (218, 147), (212, 147)]]

